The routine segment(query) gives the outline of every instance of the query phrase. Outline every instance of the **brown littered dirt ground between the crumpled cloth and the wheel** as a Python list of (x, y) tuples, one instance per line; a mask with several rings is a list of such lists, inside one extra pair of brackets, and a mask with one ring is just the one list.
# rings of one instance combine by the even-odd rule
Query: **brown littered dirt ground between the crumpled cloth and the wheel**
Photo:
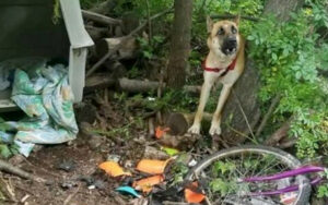
[[(131, 196), (115, 191), (119, 185), (128, 184), (129, 179), (113, 179), (99, 170), (98, 165), (109, 158), (118, 158), (125, 169), (140, 179), (144, 176), (134, 171), (134, 168), (142, 159), (145, 147), (160, 149), (160, 145), (155, 137), (149, 136), (148, 123), (140, 118), (144, 114), (143, 109), (126, 109), (126, 104), (118, 100), (110, 104), (95, 102), (93, 99), (91, 101), (95, 104), (96, 120), (93, 123), (79, 122), (80, 133), (77, 140), (42, 146), (27, 158), (16, 155), (10, 159), (12, 165), (46, 179), (47, 183), (0, 173), (0, 183), (5, 186), (4, 194), (8, 196), (4, 205), (131, 203)], [(86, 108), (82, 112), (84, 117), (78, 116), (78, 119), (87, 121), (89, 117), (93, 118)], [(138, 202), (132, 204), (137, 205)]]

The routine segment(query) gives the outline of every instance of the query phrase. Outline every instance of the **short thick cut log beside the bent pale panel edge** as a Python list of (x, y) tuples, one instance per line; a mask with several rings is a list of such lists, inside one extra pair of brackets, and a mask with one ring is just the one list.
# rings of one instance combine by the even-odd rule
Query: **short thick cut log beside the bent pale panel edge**
[(132, 36), (104, 38), (96, 44), (96, 53), (99, 57), (110, 53), (110, 59), (133, 59), (137, 52), (138, 44)]

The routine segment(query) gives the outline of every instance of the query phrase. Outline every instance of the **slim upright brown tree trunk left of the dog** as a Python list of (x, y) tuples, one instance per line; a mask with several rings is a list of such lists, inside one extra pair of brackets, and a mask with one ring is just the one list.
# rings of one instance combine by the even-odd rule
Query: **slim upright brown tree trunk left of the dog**
[(192, 0), (175, 0), (174, 8), (167, 84), (177, 88), (184, 86), (186, 80), (191, 38)]

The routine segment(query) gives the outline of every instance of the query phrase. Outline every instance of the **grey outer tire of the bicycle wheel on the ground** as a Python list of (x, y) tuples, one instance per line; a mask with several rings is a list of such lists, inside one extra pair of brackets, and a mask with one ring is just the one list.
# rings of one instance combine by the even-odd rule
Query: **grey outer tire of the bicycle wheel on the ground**
[[(238, 153), (258, 153), (258, 154), (271, 154), (278, 159), (284, 162), (290, 169), (295, 169), (302, 166), (301, 161), (296, 159), (291, 154), (281, 150), (279, 148), (262, 146), (262, 145), (243, 145), (238, 147), (231, 147), (222, 149), (218, 153), (210, 155), (209, 157), (199, 161), (186, 176), (186, 180), (194, 180), (194, 176), (199, 174), (199, 172), (207, 167), (209, 167), (213, 161), (227, 157), (230, 155), (235, 155)], [(298, 195), (294, 205), (306, 205), (309, 201), (311, 195), (311, 184), (309, 180), (305, 176), (300, 176)]]

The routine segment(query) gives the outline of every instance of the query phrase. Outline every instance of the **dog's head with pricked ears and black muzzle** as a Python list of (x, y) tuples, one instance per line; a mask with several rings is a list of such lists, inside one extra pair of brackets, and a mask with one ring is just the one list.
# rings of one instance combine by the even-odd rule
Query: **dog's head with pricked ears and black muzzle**
[(208, 46), (210, 50), (219, 56), (234, 56), (239, 45), (238, 23), (239, 17), (235, 21), (219, 21), (215, 23), (208, 17)]

